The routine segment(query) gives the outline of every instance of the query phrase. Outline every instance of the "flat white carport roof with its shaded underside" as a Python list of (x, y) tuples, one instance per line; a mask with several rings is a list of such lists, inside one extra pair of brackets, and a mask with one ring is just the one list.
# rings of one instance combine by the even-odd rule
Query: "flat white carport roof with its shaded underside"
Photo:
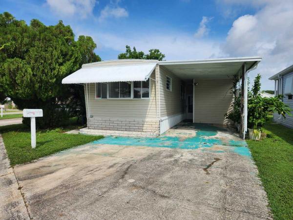
[(193, 61), (159, 61), (181, 79), (223, 79), (238, 73), (245, 63), (246, 70), (261, 61), (261, 57), (221, 58)]

